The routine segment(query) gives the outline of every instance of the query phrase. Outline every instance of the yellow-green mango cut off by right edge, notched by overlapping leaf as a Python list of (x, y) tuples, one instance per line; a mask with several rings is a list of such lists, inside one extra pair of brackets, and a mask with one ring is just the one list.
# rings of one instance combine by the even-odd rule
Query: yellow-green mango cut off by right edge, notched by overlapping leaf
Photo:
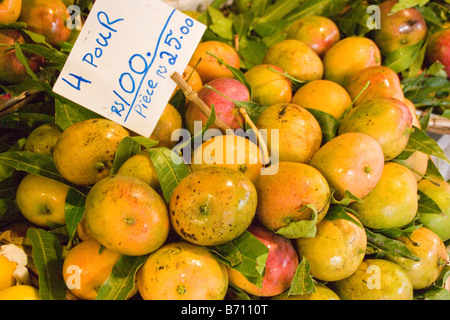
[(432, 179), (422, 179), (417, 184), (418, 190), (430, 197), (442, 210), (440, 214), (421, 214), (418, 222), (435, 232), (442, 241), (450, 239), (450, 184)]

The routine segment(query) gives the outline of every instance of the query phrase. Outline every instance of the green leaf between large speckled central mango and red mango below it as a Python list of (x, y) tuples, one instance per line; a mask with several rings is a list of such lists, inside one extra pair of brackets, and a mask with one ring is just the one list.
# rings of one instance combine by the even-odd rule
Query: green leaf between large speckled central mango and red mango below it
[(269, 249), (250, 232), (233, 241), (207, 247), (222, 263), (239, 271), (251, 283), (261, 286)]

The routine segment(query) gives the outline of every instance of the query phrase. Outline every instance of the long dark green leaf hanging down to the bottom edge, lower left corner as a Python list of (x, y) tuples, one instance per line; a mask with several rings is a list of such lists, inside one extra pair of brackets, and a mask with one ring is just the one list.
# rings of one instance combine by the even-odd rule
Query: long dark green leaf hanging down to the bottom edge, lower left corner
[(62, 247), (48, 231), (29, 228), (26, 237), (32, 245), (33, 262), (39, 273), (39, 295), (42, 300), (65, 300)]

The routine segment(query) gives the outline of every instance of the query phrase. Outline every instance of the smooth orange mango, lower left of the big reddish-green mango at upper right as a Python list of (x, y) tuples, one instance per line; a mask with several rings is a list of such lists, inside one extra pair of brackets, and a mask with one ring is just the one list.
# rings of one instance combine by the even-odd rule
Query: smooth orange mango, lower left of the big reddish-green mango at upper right
[(380, 65), (381, 53), (375, 42), (366, 37), (352, 36), (337, 42), (323, 57), (324, 79), (345, 88), (355, 73)]

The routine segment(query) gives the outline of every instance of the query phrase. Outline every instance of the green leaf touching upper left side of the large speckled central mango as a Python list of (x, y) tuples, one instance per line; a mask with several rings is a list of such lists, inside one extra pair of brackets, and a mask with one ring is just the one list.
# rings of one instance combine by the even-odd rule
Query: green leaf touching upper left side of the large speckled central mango
[(189, 166), (168, 148), (148, 149), (161, 184), (161, 190), (168, 203), (178, 183), (190, 174)]

